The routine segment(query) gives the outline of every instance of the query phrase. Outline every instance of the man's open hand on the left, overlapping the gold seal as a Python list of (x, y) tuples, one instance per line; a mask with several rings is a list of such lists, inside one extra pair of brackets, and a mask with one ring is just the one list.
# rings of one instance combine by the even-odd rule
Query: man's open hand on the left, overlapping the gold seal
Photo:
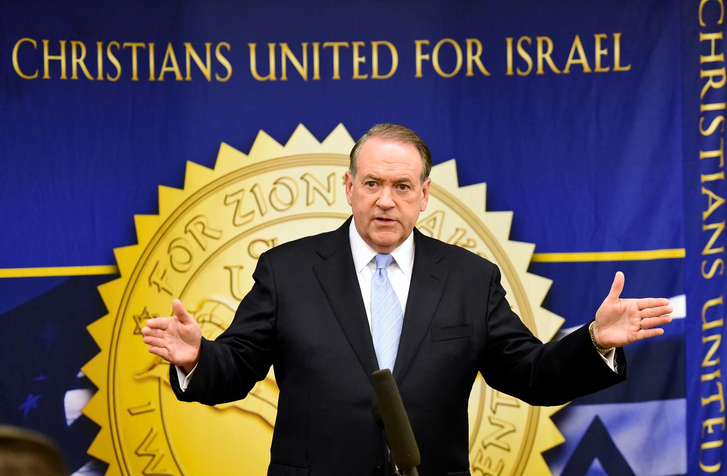
[(189, 374), (199, 360), (202, 332), (179, 299), (172, 301), (172, 310), (174, 315), (169, 318), (147, 320), (141, 333), (144, 343), (150, 345), (149, 352)]

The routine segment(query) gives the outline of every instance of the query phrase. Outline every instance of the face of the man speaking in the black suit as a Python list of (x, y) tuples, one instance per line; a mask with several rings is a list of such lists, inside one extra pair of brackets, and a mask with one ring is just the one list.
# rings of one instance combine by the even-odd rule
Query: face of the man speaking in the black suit
[(422, 184), (422, 158), (414, 145), (371, 137), (358, 154), (356, 177), (345, 174), (346, 198), (361, 238), (378, 253), (390, 253), (414, 230), (429, 201)]

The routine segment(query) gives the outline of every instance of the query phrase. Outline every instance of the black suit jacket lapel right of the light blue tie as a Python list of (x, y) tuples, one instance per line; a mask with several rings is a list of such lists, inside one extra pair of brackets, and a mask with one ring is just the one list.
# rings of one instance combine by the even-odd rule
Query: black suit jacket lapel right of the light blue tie
[(430, 328), (449, 275), (447, 270), (438, 265), (442, 256), (430, 246), (429, 240), (431, 238), (414, 228), (414, 269), (411, 270), (409, 297), (406, 299), (404, 323), (394, 364), (394, 379), (400, 387)]

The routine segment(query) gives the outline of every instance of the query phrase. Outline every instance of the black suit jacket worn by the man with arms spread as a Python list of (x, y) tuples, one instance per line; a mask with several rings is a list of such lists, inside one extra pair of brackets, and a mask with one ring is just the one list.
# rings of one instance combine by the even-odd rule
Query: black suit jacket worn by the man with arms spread
[[(177, 398), (244, 398), (274, 366), (280, 388), (268, 475), (373, 475), (385, 466), (371, 417), (378, 369), (348, 239), (338, 230), (262, 254), (233, 323), (202, 340)], [(419, 474), (469, 469), (467, 401), (478, 371), (497, 390), (557, 405), (625, 378), (593, 348), (587, 326), (542, 344), (505, 299), (497, 266), (414, 230), (414, 269), (394, 377), (417, 438)]]

